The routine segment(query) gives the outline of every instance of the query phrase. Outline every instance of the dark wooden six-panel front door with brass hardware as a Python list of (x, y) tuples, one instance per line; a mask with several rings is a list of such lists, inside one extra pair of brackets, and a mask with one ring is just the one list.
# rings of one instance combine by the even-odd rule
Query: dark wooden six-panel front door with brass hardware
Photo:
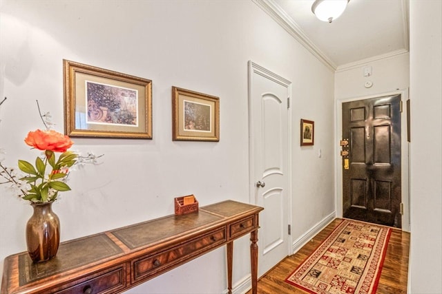
[(343, 103), (343, 140), (343, 216), (401, 228), (401, 95)]

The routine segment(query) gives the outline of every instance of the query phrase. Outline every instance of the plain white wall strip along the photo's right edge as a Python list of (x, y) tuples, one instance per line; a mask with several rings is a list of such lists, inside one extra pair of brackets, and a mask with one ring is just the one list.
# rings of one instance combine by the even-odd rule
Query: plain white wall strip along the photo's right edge
[(409, 293), (442, 293), (442, 2), (410, 1)]

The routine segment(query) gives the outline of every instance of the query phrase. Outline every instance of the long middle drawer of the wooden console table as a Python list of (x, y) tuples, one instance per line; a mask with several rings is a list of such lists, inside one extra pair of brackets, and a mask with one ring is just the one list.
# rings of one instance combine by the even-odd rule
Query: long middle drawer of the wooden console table
[(186, 258), (191, 258), (198, 253), (222, 244), (227, 240), (225, 228), (213, 231), (201, 238), (185, 242), (182, 245), (175, 246), (173, 249), (163, 251), (147, 258), (142, 258), (133, 262), (133, 282), (142, 280), (149, 275), (155, 275), (158, 272), (166, 271)]

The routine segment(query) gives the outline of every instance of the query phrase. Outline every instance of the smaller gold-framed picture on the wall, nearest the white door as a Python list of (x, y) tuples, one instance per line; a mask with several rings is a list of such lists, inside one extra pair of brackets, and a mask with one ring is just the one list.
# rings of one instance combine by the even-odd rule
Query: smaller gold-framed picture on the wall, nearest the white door
[(220, 140), (220, 98), (172, 87), (172, 138)]

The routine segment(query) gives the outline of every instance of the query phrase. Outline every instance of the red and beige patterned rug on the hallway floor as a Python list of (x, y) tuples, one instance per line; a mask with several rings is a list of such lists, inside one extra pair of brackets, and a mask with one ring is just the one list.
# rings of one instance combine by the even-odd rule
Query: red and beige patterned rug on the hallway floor
[(343, 220), (285, 282), (313, 294), (376, 293), (391, 233)]

